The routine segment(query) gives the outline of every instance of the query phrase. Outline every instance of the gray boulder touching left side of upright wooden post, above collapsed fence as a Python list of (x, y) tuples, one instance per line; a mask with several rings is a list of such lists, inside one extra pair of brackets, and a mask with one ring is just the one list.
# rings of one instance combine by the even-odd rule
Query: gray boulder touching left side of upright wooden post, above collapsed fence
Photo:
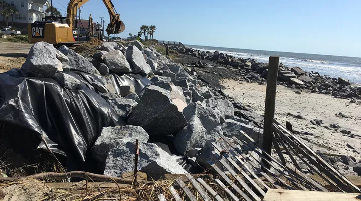
[(260, 139), (262, 139), (263, 129), (242, 122), (226, 119), (225, 123), (223, 123), (221, 126), (223, 135), (227, 137), (236, 137), (238, 139), (244, 138), (245, 140), (247, 140), (247, 138), (245, 138), (244, 136), (240, 138), (239, 131), (243, 131), (256, 142), (259, 142)]

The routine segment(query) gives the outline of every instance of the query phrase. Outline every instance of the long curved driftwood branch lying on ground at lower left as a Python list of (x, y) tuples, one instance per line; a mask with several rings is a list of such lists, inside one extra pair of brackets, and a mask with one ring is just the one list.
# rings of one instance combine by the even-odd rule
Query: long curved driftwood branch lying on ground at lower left
[(113, 177), (113, 176), (93, 174), (90, 172), (82, 172), (82, 171), (73, 171), (73, 172), (66, 172), (66, 173), (46, 172), (46, 173), (34, 174), (34, 175), (30, 175), (30, 176), (25, 176), (25, 177), (0, 178), (0, 183), (4, 183), (4, 182), (8, 182), (8, 181), (17, 181), (19, 179), (37, 179), (37, 180), (54, 179), (54, 180), (57, 180), (57, 179), (67, 179), (67, 178), (83, 178), (83, 179), (93, 180), (93, 181), (132, 184), (132, 179), (118, 178), (118, 177)]

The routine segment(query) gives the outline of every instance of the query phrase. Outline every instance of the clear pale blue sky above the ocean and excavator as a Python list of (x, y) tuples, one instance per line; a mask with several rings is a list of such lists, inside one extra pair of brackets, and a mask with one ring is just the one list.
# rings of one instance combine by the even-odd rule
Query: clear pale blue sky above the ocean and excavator
[[(68, 1), (53, 0), (65, 13)], [(113, 0), (136, 34), (141, 25), (157, 27), (154, 38), (184, 44), (361, 57), (360, 0)], [(63, 5), (63, 6), (61, 6)], [(81, 12), (109, 23), (101, 0)]]

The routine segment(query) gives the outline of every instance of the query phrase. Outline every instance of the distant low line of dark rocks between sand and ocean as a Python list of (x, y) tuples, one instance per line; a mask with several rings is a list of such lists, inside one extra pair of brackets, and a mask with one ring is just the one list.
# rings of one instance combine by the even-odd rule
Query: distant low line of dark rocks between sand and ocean
[[(180, 53), (199, 59), (207, 59), (225, 65), (228, 68), (239, 69), (235, 78), (240, 81), (259, 82), (267, 79), (268, 63), (260, 63), (254, 59), (235, 58), (231, 55), (215, 52), (204, 52), (192, 48), (172, 47)], [(195, 67), (206, 67), (195, 63)], [(338, 77), (321, 76), (319, 73), (306, 72), (299, 67), (289, 68), (279, 65), (278, 81), (286, 87), (305, 90), (312, 93), (329, 94), (338, 98), (361, 99), (361, 87), (353, 87), (349, 80)], [(355, 102), (355, 100), (351, 100)]]

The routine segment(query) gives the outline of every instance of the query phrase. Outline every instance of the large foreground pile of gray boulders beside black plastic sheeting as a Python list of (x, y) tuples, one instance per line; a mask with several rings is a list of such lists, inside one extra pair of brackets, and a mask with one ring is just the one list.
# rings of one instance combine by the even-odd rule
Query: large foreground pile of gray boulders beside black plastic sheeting
[[(138, 41), (127, 47), (105, 42), (91, 58), (84, 58), (66, 46), (55, 49), (39, 42), (31, 48), (21, 71), (27, 77), (52, 78), (54, 84), (74, 93), (88, 87), (126, 123), (104, 127), (91, 148), (98, 168), (106, 175), (121, 176), (134, 170), (136, 139), (140, 147), (138, 169), (159, 179), (165, 173), (185, 170), (178, 164), (178, 156), (157, 143), (149, 143), (149, 139), (172, 136), (173, 141), (167, 146), (174, 147), (176, 154), (192, 161), (200, 158), (199, 162), (207, 166), (205, 160), (215, 151), (209, 142), (221, 136), (239, 136), (238, 130), (250, 131), (255, 140), (261, 138), (260, 129), (234, 116), (234, 106), (224, 96), (203, 86), (182, 64)], [(88, 73), (92, 78), (82, 83), (74, 71)], [(126, 73), (151, 78), (151, 84), (138, 94), (132, 85), (114, 90), (109, 77)]]

